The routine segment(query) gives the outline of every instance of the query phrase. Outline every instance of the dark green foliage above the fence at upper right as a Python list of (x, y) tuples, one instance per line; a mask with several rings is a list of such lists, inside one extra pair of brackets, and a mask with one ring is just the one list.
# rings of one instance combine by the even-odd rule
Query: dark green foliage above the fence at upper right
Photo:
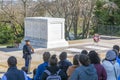
[[(115, 0), (115, 2), (116, 1), (118, 0)], [(97, 18), (98, 23), (106, 24), (106, 25), (108, 24), (120, 25), (120, 9), (105, 8), (103, 7), (105, 4), (107, 3), (101, 0), (98, 0), (96, 2), (96, 8), (94, 14), (95, 17)], [(119, 5), (117, 6), (119, 7)]]

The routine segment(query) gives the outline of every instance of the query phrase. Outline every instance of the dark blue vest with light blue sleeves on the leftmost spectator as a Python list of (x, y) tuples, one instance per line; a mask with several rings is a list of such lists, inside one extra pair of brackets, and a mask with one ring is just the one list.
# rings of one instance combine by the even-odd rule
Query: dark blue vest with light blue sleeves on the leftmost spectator
[(3, 75), (2, 80), (28, 80), (25, 72), (18, 70), (17, 67), (10, 67)]

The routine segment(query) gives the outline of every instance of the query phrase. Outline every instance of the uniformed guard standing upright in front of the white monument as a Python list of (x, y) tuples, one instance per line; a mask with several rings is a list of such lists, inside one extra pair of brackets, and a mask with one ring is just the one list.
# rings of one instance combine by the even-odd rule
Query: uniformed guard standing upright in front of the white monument
[(30, 71), (30, 62), (31, 62), (31, 54), (34, 53), (34, 49), (30, 45), (30, 41), (26, 40), (26, 44), (23, 46), (23, 58), (25, 59), (25, 67), (28, 68), (28, 72)]

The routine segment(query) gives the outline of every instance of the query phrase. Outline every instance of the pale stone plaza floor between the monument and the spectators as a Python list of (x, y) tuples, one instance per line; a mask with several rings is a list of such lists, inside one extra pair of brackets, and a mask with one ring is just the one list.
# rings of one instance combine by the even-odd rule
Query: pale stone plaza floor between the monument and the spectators
[[(59, 54), (62, 51), (66, 51), (68, 53), (68, 59), (72, 61), (72, 57), (75, 54), (79, 54), (83, 49), (86, 49), (88, 51), (95, 50), (99, 53), (101, 59), (104, 58), (105, 53), (107, 50), (112, 49), (112, 46), (117, 44), (120, 45), (120, 39), (101, 39), (98, 44), (94, 43), (92, 39), (84, 39), (84, 40), (75, 40), (75, 41), (68, 41), (69, 47), (63, 47), (63, 48), (54, 48), (54, 49), (35, 49), (35, 53), (32, 55), (32, 64), (31, 64), (31, 71), (34, 68), (37, 68), (37, 66), (42, 63), (42, 54), (45, 51), (49, 51), (51, 54), (56, 54), (59, 56)], [(19, 50), (17, 48), (5, 48), (0, 47), (0, 76), (3, 75), (2, 72), (7, 71), (7, 59), (9, 56), (15, 56), (18, 60), (18, 68), (21, 69), (21, 67), (24, 66), (24, 59), (22, 58), (22, 50)]]

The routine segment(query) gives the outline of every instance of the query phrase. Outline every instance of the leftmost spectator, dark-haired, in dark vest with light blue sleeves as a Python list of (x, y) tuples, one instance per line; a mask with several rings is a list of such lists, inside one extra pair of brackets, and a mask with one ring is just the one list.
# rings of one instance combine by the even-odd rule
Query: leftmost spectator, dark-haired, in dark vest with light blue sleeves
[(9, 57), (7, 62), (9, 68), (2, 80), (27, 80), (25, 72), (17, 69), (17, 59), (14, 56)]

